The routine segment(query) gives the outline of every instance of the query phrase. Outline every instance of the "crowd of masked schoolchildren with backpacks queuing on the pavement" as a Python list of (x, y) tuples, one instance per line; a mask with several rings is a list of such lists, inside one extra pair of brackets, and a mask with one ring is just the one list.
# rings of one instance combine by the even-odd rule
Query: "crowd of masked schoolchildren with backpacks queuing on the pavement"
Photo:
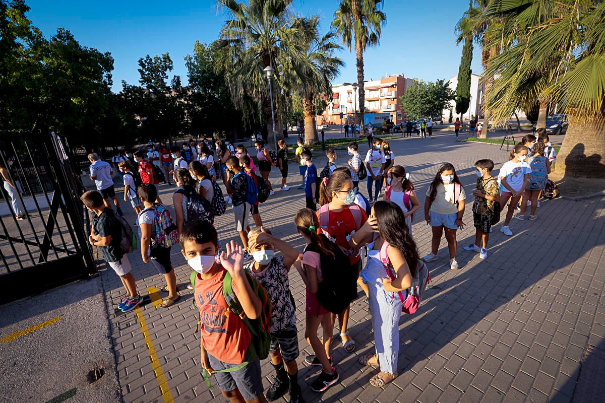
[[(206, 375), (214, 375), (223, 395), (230, 401), (274, 401), (288, 391), (290, 402), (303, 401), (298, 383), (299, 346), (295, 301), (289, 284), (290, 268), (296, 269), (306, 285), (305, 338), (313, 354), (304, 359), (311, 366), (321, 367), (321, 373), (310, 385), (316, 392), (326, 390), (339, 379), (330, 354), (336, 320), (345, 351), (351, 353), (356, 348), (348, 332), (348, 320), (358, 285), (368, 297), (376, 344), (376, 353), (361, 356), (359, 363), (378, 367), (379, 371), (369, 382), (383, 387), (397, 376), (399, 316), (402, 311), (413, 312), (407, 306), (408, 289), (418, 285), (419, 279), (424, 286), (430, 281), (424, 262), (437, 259), (443, 233), (448, 242), (450, 268), (459, 268), (456, 231), (465, 226), (462, 218), (466, 193), (454, 166), (442, 164), (425, 193), (424, 218), (431, 226), (433, 237), (431, 253), (420, 259), (411, 227), (420, 201), (410, 175), (404, 167), (394, 164), (387, 141), (373, 138), (372, 144), (364, 160), (358, 153), (358, 145), (348, 144), (351, 158), (344, 167), (336, 167), (335, 150), (327, 150), (328, 162), (318, 173), (312, 152), (298, 139), (295, 154), (303, 176), (301, 188), (305, 190), (306, 208), (296, 213), (294, 224), (306, 243), (303, 253), (272, 236), (269, 228), (263, 226), (258, 198), (250, 199), (250, 191), (260, 186), (264, 176), (256, 175), (243, 147), (238, 147), (237, 153), (223, 150), (226, 158), (220, 160), (219, 172), (228, 178), (227, 192), (231, 195), (236, 230), (243, 245), (232, 241), (224, 250), (211, 222), (183, 218), (188, 208), (183, 200), (191, 198), (194, 181), (198, 182), (194, 192), (209, 203), (214, 204), (215, 198), (222, 197), (217, 194), (216, 176), (211, 173), (213, 161), (207, 158), (207, 144), (201, 145), (202, 160), (190, 161), (186, 169), (176, 165), (182, 158), (180, 151), (172, 151), (176, 168), (173, 179), (179, 186), (175, 195), (181, 195), (173, 196), (176, 224), (166, 207), (157, 202), (156, 187), (146, 183), (137, 187), (132, 178), (128, 178), (131, 176), (128, 161), (120, 161), (120, 169), (125, 173), (125, 201), (129, 199), (138, 214), (143, 262), (151, 261), (166, 280), (166, 285), (160, 288), (168, 293), (162, 306), (170, 306), (179, 298), (170, 248), (180, 243), (181, 252), (193, 270), (191, 288), (200, 314), (201, 364)], [(218, 142), (217, 145), (222, 147)], [(278, 153), (275, 165), (284, 178), (284, 189), (287, 187), (287, 152), (283, 141), (279, 145), (283, 152)], [(273, 162), (264, 150), (262, 141), (257, 141), (257, 157), (262, 154), (265, 158), (259, 161), (261, 173), (270, 170)], [(548, 136), (543, 134), (537, 139), (528, 135), (511, 151), (509, 161), (497, 178), (491, 175), (493, 161), (475, 163), (478, 176), (473, 190), (476, 239), (465, 250), (479, 252), (480, 258), (486, 259), (491, 227), (499, 221), (500, 210), (509, 201), (501, 227), (503, 233), (512, 234), (511, 218), (524, 219), (528, 205), (531, 206), (529, 219), (536, 219), (539, 193), (550, 171), (551, 153), (554, 156)], [(357, 189), (359, 181), (366, 176), (368, 199)], [(386, 183), (384, 199), (378, 201), (383, 182)], [(521, 213), (513, 215), (520, 200)], [(94, 213), (89, 241), (101, 247), (103, 257), (120, 276), (126, 297), (119, 309), (130, 311), (140, 304), (142, 297), (137, 292), (123, 247), (128, 230), (113, 210), (105, 207), (99, 192), (86, 192), (82, 201)], [(252, 230), (247, 222), (248, 213), (256, 225)], [(281, 254), (276, 255), (276, 251)], [(366, 256), (365, 264), (362, 264), (362, 256)], [(322, 338), (318, 337), (319, 326)], [(275, 369), (275, 377), (265, 394), (260, 360), (267, 356)]]

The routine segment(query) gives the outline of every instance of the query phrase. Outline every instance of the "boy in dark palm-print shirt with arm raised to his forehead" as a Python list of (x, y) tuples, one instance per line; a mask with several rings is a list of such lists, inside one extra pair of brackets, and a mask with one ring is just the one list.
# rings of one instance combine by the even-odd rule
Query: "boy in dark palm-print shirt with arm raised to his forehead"
[[(290, 388), (290, 402), (304, 402), (298, 385), (298, 332), (296, 308), (290, 292), (288, 272), (298, 259), (298, 250), (272, 236), (271, 231), (257, 227), (248, 233), (253, 262), (244, 265), (271, 298), (271, 346), (269, 356), (276, 376), (266, 393), (267, 401), (281, 398)], [(274, 250), (283, 255), (273, 256)], [(284, 362), (286, 368), (284, 369)]]

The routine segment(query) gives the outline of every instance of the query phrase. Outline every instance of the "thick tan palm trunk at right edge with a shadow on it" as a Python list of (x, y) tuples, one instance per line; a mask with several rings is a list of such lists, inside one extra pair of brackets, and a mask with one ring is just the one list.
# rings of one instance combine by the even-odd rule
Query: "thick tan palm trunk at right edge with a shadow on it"
[(605, 116), (572, 116), (557, 155), (555, 174), (568, 178), (605, 178), (604, 156)]

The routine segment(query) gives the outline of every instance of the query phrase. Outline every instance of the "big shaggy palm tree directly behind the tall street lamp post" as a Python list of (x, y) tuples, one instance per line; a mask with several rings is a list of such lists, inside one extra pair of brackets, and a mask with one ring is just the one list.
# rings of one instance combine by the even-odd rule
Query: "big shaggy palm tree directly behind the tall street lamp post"
[[(215, 69), (224, 74), (234, 105), (246, 117), (260, 114), (267, 122), (269, 133), (273, 130), (271, 104), (263, 69), (267, 66), (275, 69), (273, 103), (278, 109), (283, 86), (281, 69), (289, 59), (300, 57), (304, 51), (301, 26), (296, 24), (290, 11), (292, 1), (218, 0), (218, 5), (231, 19), (221, 28)], [(283, 138), (281, 115), (279, 110), (275, 111), (278, 138)], [(272, 136), (269, 142), (273, 142)]]

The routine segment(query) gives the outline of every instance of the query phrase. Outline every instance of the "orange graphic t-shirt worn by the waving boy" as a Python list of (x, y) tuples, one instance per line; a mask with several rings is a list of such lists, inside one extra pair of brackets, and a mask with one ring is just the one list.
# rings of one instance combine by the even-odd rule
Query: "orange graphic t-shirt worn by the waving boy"
[[(228, 309), (223, 295), (223, 279), (226, 269), (222, 268), (208, 280), (197, 274), (195, 301), (200, 311), (201, 339), (204, 349), (214, 358), (229, 364), (241, 364), (250, 345), (250, 330), (243, 320)], [(233, 283), (237, 295), (237, 284)]]

